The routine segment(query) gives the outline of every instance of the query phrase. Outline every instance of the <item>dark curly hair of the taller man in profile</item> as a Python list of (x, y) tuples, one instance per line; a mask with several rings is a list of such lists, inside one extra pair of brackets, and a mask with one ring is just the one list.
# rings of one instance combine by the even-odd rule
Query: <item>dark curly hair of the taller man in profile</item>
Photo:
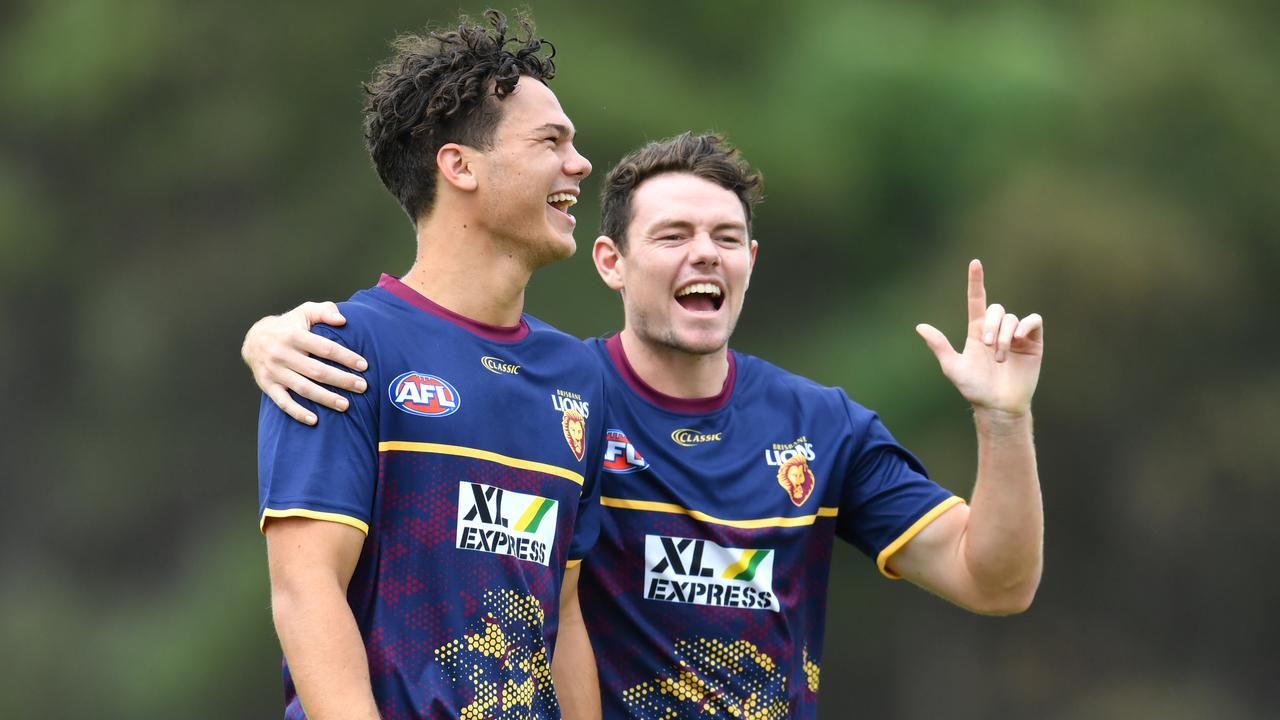
[(456, 31), (396, 38), (394, 55), (365, 85), (365, 145), (412, 222), (435, 201), (440, 146), (488, 150), (502, 118), (498, 102), (521, 76), (543, 83), (556, 76), (556, 47), (534, 37), (531, 18), (516, 15), (522, 35), (508, 37), (506, 15), (485, 10), (484, 17), (490, 27), (462, 17)]

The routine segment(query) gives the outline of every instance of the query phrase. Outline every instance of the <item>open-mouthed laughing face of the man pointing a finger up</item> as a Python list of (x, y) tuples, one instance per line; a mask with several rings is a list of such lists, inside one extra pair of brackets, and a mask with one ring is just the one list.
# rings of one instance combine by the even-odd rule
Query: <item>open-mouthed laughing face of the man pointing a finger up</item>
[(733, 192), (689, 173), (644, 181), (617, 261), (627, 329), (657, 347), (721, 351), (742, 311), (755, 249)]

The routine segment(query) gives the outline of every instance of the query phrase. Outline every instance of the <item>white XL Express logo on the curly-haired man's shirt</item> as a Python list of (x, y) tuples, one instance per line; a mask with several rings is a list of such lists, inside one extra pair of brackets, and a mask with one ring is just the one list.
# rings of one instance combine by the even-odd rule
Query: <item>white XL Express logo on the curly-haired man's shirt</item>
[(557, 510), (547, 497), (458, 483), (457, 547), (549, 565)]

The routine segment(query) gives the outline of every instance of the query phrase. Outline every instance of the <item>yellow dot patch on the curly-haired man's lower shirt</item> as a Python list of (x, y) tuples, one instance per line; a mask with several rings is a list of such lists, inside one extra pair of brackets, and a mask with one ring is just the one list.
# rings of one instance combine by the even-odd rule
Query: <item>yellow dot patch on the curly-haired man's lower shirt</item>
[(454, 683), (466, 683), (472, 702), (465, 720), (558, 716), (552, 669), (543, 643), (547, 614), (536, 598), (511, 589), (486, 591), (483, 615), (466, 634), (435, 648), (435, 660)]

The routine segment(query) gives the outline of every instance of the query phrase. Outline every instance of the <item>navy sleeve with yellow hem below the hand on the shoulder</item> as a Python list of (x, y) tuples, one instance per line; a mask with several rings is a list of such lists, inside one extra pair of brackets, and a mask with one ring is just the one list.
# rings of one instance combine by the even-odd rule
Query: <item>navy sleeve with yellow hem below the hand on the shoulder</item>
[[(312, 332), (366, 352), (326, 325), (316, 325)], [(379, 387), (369, 377), (371, 373), (362, 374), (367, 387)], [(260, 529), (265, 529), (268, 518), (312, 518), (369, 533), (378, 482), (375, 393), (335, 392), (348, 400), (346, 413), (300, 398), (319, 419), (315, 425), (298, 423), (262, 396), (257, 424)]]

